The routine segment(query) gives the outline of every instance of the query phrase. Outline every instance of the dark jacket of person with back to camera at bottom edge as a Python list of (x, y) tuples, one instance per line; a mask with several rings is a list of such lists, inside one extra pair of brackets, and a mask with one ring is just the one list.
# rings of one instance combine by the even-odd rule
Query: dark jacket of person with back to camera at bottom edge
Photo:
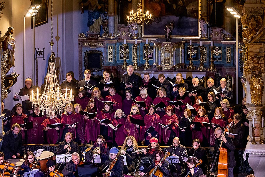
[(99, 167), (92, 162), (86, 162), (82, 165), (77, 166), (77, 170), (74, 173), (77, 177), (102, 177)]

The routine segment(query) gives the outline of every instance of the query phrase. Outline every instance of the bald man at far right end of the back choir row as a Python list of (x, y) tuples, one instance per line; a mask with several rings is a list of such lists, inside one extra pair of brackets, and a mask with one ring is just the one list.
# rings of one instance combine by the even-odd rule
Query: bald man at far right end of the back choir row
[(217, 88), (217, 92), (221, 93), (218, 97), (220, 103), (223, 99), (227, 99), (230, 104), (232, 104), (233, 101), (233, 90), (231, 88), (228, 88), (226, 85), (226, 78), (221, 78), (220, 80), (221, 86)]

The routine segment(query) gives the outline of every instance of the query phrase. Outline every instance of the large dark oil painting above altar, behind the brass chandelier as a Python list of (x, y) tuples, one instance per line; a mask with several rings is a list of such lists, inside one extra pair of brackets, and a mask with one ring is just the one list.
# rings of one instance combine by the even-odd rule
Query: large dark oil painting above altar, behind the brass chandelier
[(199, 36), (199, 3), (201, 0), (144, 0), (144, 12), (149, 10), (153, 22), (142, 26), (142, 36), (165, 36), (165, 26), (174, 23), (172, 37)]

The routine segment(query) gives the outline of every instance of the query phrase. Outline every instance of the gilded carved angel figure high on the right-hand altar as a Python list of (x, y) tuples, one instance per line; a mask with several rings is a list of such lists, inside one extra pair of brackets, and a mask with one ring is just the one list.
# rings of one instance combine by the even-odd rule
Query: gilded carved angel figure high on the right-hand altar
[(241, 23), (243, 24), (242, 36), (246, 39), (251, 39), (259, 31), (262, 25), (262, 19), (260, 16), (243, 15), (241, 17)]

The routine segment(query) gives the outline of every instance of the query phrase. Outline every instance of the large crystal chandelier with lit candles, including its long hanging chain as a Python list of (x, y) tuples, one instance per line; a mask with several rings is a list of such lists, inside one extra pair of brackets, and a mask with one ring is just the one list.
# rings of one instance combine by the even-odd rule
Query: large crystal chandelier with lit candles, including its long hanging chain
[[(51, 0), (51, 10), (52, 10), (52, 0)], [(52, 31), (52, 13), (51, 13), (51, 31)], [(52, 34), (52, 33), (51, 33)], [(52, 35), (51, 35), (52, 37)], [(50, 42), (51, 50), (54, 42)], [(63, 95), (59, 89), (59, 83), (57, 80), (56, 69), (55, 69), (55, 53), (52, 51), (49, 58), (48, 72), (46, 75), (46, 83), (44, 87), (44, 92), (39, 96), (39, 89), (37, 93), (34, 94), (32, 90), (31, 96), (29, 97), (30, 102), (32, 102), (34, 109), (37, 107), (42, 111), (42, 116), (46, 111), (47, 117), (54, 117), (57, 114), (61, 114), (64, 110), (64, 106), (74, 100), (74, 95), (72, 90), (68, 93), (67, 88), (65, 89), (65, 94)], [(55, 115), (54, 115), (55, 114)]]

